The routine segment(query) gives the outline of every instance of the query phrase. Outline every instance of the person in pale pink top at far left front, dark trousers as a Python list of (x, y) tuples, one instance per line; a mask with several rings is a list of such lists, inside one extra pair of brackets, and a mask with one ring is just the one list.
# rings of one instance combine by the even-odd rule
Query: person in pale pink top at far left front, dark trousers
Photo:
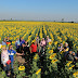
[(1, 62), (3, 64), (3, 69), (6, 72), (8, 76), (10, 76), (10, 65), (8, 65), (9, 61), (9, 53), (5, 47), (2, 48), (2, 53), (1, 53)]

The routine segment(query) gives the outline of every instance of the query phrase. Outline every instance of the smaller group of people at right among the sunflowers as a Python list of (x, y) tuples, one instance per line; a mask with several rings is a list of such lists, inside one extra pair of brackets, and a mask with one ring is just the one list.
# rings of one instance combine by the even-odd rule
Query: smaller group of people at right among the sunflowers
[(72, 49), (69, 49), (68, 43), (65, 42), (64, 47), (63, 43), (60, 44), (57, 48), (60, 52), (64, 52), (64, 60), (65, 61), (73, 61), (76, 62), (78, 60), (78, 52), (75, 53)]

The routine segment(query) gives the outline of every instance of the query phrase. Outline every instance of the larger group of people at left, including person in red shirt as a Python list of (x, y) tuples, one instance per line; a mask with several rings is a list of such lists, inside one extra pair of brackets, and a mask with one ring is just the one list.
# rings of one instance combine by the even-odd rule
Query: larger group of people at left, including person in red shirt
[(30, 57), (32, 61), (32, 57), (36, 53), (43, 53), (44, 48), (47, 43), (49, 43), (51, 39), (49, 36), (47, 38), (42, 38), (40, 41), (39, 37), (37, 36), (36, 41), (29, 46), (27, 41), (25, 41), (22, 37), (16, 39), (15, 47), (16, 50), (13, 49), (12, 40), (10, 40), (10, 37), (6, 39), (4, 38), (2, 41), (2, 52), (1, 52), (1, 63), (3, 64), (3, 69), (6, 72), (6, 75), (10, 76), (10, 65), (11, 65), (11, 74), (14, 74), (13, 72), (13, 62), (14, 62), (14, 54), (22, 55), (23, 57), (27, 56), (27, 60)]

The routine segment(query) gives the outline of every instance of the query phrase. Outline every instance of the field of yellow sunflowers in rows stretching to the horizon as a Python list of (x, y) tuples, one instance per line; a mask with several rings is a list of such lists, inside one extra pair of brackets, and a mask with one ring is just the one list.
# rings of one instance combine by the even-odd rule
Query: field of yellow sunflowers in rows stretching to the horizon
[[(64, 61), (64, 52), (58, 52), (60, 43), (68, 42), (75, 53), (78, 51), (78, 24), (52, 23), (52, 22), (0, 22), (0, 42), (10, 37), (13, 49), (16, 38), (31, 42), (39, 36), (40, 40), (49, 36), (52, 40), (46, 47), (46, 54), (41, 58), (38, 54), (34, 56), (32, 63), (23, 64), (24, 70), (20, 70), (17, 60), (14, 61), (13, 78), (78, 78), (78, 62)], [(0, 52), (1, 54), (1, 52)], [(16, 57), (16, 55), (14, 56)], [(0, 77), (6, 78), (0, 65)]]

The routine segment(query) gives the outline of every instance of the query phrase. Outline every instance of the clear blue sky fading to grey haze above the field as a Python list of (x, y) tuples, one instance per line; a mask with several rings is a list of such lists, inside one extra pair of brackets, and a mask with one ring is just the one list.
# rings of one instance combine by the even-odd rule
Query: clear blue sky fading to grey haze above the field
[(0, 0), (0, 20), (76, 21), (78, 0)]

